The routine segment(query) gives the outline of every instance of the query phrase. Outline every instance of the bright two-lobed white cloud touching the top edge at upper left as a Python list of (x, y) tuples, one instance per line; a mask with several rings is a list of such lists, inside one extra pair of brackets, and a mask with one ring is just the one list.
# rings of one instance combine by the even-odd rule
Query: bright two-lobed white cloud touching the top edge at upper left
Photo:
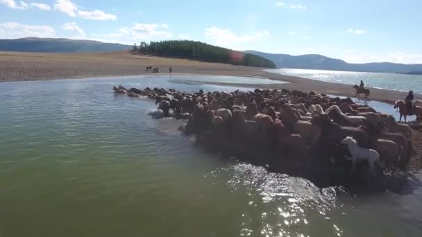
[(117, 19), (116, 15), (112, 15), (110, 13), (103, 12), (101, 10), (80, 10), (81, 7), (76, 5), (71, 0), (57, 0), (54, 4), (54, 9), (60, 12), (65, 13), (69, 17), (82, 17), (84, 19), (92, 19), (92, 20), (115, 20)]

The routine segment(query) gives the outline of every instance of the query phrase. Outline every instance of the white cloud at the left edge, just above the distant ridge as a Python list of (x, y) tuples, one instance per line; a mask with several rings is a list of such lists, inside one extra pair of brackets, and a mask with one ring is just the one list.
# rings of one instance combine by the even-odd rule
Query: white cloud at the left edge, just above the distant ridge
[(17, 22), (0, 23), (0, 31), (1, 37), (7, 39), (56, 36), (56, 30), (51, 26), (25, 25)]

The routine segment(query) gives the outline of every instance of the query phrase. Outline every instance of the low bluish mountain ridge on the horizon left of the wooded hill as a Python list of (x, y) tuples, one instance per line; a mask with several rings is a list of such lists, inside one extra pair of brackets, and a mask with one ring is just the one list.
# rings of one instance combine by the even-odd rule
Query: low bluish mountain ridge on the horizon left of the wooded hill
[(110, 52), (133, 49), (124, 44), (103, 43), (94, 40), (69, 40), (28, 37), (16, 40), (0, 40), (0, 51), (34, 53)]

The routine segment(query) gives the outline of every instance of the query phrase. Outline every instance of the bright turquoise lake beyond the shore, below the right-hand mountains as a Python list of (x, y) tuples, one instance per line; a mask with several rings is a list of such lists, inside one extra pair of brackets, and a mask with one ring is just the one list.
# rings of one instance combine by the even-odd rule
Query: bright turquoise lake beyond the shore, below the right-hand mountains
[(365, 82), (366, 87), (392, 89), (398, 91), (413, 91), (422, 94), (422, 76), (405, 75), (396, 73), (365, 73), (354, 71), (327, 71), (310, 69), (269, 69), (271, 73), (279, 73), (288, 76), (298, 76), (322, 80), (324, 82), (359, 85), (360, 80)]

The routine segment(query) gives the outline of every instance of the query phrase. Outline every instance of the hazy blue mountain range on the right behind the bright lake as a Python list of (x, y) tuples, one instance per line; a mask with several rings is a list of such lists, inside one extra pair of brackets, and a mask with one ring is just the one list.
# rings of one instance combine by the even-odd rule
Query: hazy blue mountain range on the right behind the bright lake
[(328, 58), (318, 54), (288, 55), (262, 53), (259, 51), (245, 51), (259, 55), (273, 61), (277, 67), (292, 69), (321, 69), (336, 71), (367, 71), (383, 73), (409, 73), (412, 71), (422, 71), (422, 64), (398, 64), (392, 62), (371, 62), (362, 64), (347, 63), (343, 60)]

